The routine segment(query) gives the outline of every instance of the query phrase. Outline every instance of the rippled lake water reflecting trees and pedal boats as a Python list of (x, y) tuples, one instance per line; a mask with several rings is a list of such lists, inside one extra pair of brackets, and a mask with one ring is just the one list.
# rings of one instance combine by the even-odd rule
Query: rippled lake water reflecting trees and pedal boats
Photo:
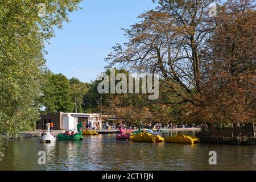
[[(38, 164), (39, 151), (46, 165)], [(209, 151), (217, 152), (216, 166)], [(115, 134), (52, 144), (28, 138), (10, 142), (0, 170), (256, 170), (256, 146), (123, 142)]]

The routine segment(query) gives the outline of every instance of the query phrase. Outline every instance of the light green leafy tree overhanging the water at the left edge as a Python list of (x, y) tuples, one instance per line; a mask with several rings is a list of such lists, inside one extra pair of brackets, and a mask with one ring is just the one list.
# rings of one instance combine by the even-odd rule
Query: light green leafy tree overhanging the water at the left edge
[(0, 135), (16, 136), (34, 127), (39, 118), (44, 42), (54, 36), (55, 26), (61, 28), (69, 21), (68, 13), (79, 9), (80, 2), (1, 1)]

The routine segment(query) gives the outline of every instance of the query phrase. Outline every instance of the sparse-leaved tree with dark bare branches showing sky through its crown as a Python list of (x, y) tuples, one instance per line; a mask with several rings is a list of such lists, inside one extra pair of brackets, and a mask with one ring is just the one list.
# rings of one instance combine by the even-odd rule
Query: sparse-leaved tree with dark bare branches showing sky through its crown
[(213, 0), (159, 1), (156, 10), (139, 16), (125, 30), (129, 42), (113, 47), (106, 58), (134, 72), (159, 73), (183, 100), (196, 103), (201, 90), (200, 51), (209, 41), (214, 22), (208, 15)]

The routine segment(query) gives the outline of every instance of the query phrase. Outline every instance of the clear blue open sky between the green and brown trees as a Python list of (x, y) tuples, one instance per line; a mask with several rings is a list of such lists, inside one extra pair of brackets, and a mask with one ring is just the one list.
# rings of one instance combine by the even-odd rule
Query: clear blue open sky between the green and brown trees
[(137, 23), (141, 13), (156, 5), (151, 0), (84, 0), (80, 6), (69, 15), (70, 23), (56, 28), (46, 46), (46, 65), (53, 73), (90, 82), (104, 71), (111, 48), (126, 42), (121, 28)]

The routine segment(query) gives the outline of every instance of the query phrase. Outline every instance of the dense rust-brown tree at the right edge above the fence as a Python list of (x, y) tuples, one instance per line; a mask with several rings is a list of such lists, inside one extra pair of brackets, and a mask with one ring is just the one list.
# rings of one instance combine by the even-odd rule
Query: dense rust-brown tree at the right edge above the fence
[(255, 122), (256, 12), (253, 2), (228, 1), (220, 7), (217, 28), (203, 56), (207, 77), (203, 80), (200, 99), (205, 107), (196, 110), (204, 120)]

